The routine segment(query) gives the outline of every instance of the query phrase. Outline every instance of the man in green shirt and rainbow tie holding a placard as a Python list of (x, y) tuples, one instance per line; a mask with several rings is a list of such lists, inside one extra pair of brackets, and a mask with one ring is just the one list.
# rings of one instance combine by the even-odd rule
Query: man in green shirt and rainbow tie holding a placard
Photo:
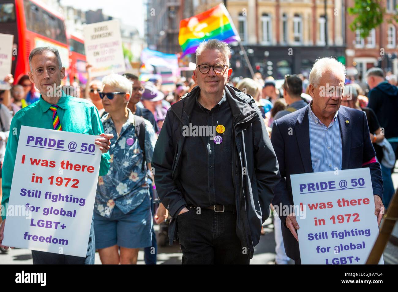
[[(113, 135), (103, 133), (98, 110), (94, 104), (84, 99), (71, 97), (60, 91), (61, 80), (65, 77), (65, 68), (62, 67), (58, 50), (52, 47), (33, 49), (29, 54), (29, 65), (31, 69), (29, 72), (30, 81), (35, 83), (41, 95), (39, 101), (18, 111), (12, 119), (2, 171), (2, 206), (8, 203), (10, 197), (21, 126), (100, 135), (101, 137), (95, 139), (95, 143), (100, 145), (102, 151), (100, 176), (108, 172), (110, 164), (107, 151)], [(2, 218), (0, 246), (2, 246), (6, 216)], [(6, 246), (2, 247), (8, 249)], [(33, 264), (94, 264), (94, 255), (93, 221), (91, 222), (86, 257), (32, 250)]]

